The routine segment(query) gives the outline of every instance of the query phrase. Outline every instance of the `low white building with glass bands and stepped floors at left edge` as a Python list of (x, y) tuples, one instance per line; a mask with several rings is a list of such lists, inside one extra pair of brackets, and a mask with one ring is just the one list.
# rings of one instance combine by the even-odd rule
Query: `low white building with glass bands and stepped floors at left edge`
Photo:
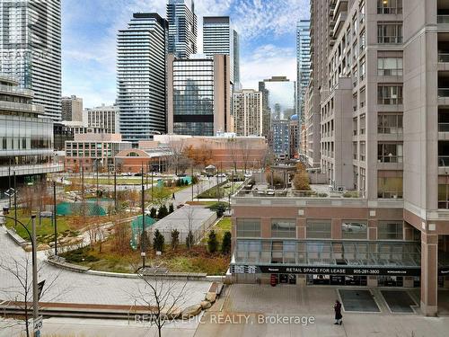
[(14, 175), (32, 182), (64, 168), (53, 161), (53, 122), (39, 118), (44, 107), (32, 102), (31, 90), (0, 75), (0, 185), (5, 190)]

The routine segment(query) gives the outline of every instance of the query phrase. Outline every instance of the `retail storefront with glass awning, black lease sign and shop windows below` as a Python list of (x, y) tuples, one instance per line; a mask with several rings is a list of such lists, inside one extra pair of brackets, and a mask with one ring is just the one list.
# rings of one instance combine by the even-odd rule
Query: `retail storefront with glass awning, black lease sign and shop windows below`
[[(231, 272), (237, 282), (419, 287), (420, 259), (418, 242), (238, 239)], [(444, 255), (440, 277), (449, 272), (446, 263)]]

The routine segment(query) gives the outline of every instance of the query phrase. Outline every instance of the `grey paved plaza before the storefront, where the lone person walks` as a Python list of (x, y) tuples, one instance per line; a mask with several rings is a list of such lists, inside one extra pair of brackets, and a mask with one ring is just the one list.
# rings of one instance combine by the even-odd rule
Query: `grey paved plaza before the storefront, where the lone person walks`
[[(204, 315), (203, 321), (207, 324), (198, 325), (195, 337), (446, 337), (448, 335), (449, 317), (391, 314), (382, 298), (376, 298), (381, 313), (343, 312), (343, 325), (334, 325), (332, 306), (338, 298), (337, 289), (233, 285), (227, 289), (225, 297), (219, 299)], [(377, 296), (374, 293), (374, 297)]]

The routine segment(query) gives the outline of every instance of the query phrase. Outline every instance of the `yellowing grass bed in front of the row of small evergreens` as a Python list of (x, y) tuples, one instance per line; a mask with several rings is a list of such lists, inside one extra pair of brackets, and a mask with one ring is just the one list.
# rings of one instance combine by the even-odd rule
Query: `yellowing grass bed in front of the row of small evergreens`
[[(141, 257), (139, 251), (127, 253), (115, 252), (112, 240), (102, 244), (101, 253), (99, 245), (93, 250), (88, 247), (73, 252), (63, 253), (66, 262), (91, 267), (92, 270), (111, 272), (135, 272), (140, 266)], [(146, 253), (146, 263), (161, 268), (168, 268), (172, 272), (206, 272), (208, 275), (222, 275), (229, 267), (229, 256), (219, 253), (207, 252), (205, 246), (195, 246), (189, 251), (185, 246), (172, 250), (166, 246), (161, 256), (154, 251)]]

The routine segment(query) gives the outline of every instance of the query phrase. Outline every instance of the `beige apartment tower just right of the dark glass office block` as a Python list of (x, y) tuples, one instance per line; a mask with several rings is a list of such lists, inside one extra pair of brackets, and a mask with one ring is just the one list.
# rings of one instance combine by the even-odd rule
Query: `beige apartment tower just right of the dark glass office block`
[(252, 89), (234, 92), (233, 119), (237, 136), (262, 136), (262, 94)]

